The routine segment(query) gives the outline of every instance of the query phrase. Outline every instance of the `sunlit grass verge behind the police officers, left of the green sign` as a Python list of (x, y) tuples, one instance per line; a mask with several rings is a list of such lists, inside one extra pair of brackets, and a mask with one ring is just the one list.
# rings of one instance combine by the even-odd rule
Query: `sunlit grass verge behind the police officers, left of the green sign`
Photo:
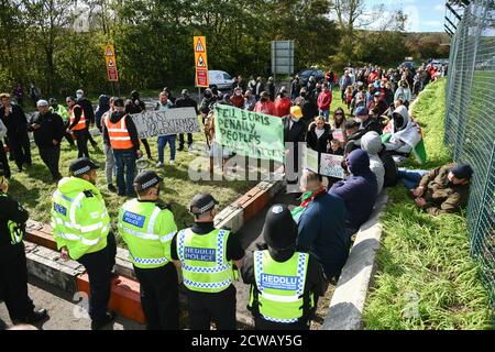
[[(196, 145), (205, 144), (205, 135), (202, 133), (194, 134)], [(107, 208), (109, 210), (111, 220), (114, 222), (119, 208), (127, 200), (127, 198), (119, 197), (107, 189), (107, 182), (105, 177), (105, 155), (101, 146), (101, 138), (95, 139), (99, 147), (94, 150), (88, 143), (90, 157), (96, 160), (101, 169), (98, 172), (97, 186), (101, 190)], [(198, 193), (211, 193), (220, 202), (219, 208), (222, 209), (231, 201), (235, 200), (242, 194), (254, 187), (256, 182), (250, 180), (199, 180), (191, 182), (188, 176), (189, 163), (197, 157), (194, 153), (178, 152), (176, 153), (175, 165), (168, 165), (169, 147), (165, 148), (165, 167), (156, 168), (157, 160), (156, 138), (148, 139), (153, 157), (150, 169), (158, 172), (164, 177), (161, 198), (172, 204), (172, 209), (175, 216), (175, 221), (179, 228), (189, 227), (194, 219), (189, 213), (189, 202)], [(40, 160), (37, 147), (32, 147), (33, 166), (25, 169), (23, 173), (12, 170), (12, 178), (10, 183), (10, 195), (18, 199), (30, 212), (30, 218), (33, 220), (50, 223), (51, 197), (56, 189), (56, 185), (52, 183), (47, 167)], [(142, 147), (145, 153), (144, 147)], [(64, 176), (68, 175), (68, 165), (70, 161), (77, 157), (77, 148), (70, 147), (67, 141), (62, 143), (61, 166), (59, 170)], [(202, 158), (209, 165), (207, 158)], [(15, 169), (13, 163), (10, 163), (11, 168)], [(116, 182), (113, 183), (116, 185)]]

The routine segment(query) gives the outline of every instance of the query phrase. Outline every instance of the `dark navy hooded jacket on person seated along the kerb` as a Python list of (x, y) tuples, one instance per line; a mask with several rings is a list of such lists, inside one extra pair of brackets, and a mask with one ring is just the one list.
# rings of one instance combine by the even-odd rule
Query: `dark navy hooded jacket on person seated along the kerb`
[(349, 234), (353, 234), (373, 211), (377, 184), (375, 175), (370, 169), (370, 157), (365, 151), (353, 151), (345, 161), (351, 176), (336, 183), (329, 194), (343, 199), (346, 208), (345, 228)]

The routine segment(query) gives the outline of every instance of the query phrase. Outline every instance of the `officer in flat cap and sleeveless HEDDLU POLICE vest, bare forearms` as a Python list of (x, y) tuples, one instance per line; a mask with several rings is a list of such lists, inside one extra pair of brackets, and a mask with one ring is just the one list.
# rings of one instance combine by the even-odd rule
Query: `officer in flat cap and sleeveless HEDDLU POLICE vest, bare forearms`
[[(180, 230), (172, 241), (172, 258), (178, 260), (188, 300), (190, 328), (235, 329), (235, 267), (242, 266), (244, 250), (229, 230), (216, 229), (217, 200), (209, 194), (196, 195), (190, 205), (191, 228)], [(235, 267), (234, 267), (234, 265)]]

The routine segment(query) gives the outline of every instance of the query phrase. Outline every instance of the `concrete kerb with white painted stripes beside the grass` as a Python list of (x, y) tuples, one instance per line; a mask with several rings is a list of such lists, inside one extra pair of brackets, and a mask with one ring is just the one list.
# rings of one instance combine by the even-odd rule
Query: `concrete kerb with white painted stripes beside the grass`
[(349, 258), (337, 283), (322, 330), (360, 330), (367, 292), (376, 270), (376, 252), (382, 239), (380, 217), (387, 204), (386, 190), (380, 194), (370, 219), (361, 227)]

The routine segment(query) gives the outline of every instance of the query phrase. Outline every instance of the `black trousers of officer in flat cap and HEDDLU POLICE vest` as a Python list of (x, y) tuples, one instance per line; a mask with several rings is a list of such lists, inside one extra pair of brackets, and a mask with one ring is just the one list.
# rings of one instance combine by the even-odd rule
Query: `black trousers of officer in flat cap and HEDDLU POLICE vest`
[(187, 290), (189, 323), (191, 330), (210, 330), (213, 321), (218, 330), (235, 330), (235, 287), (218, 294)]

